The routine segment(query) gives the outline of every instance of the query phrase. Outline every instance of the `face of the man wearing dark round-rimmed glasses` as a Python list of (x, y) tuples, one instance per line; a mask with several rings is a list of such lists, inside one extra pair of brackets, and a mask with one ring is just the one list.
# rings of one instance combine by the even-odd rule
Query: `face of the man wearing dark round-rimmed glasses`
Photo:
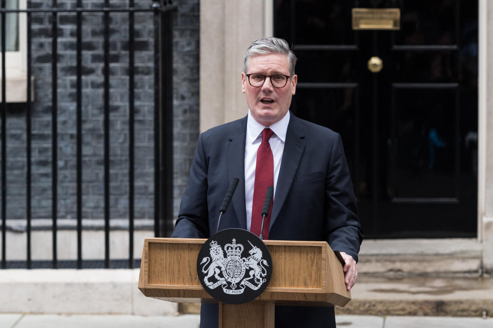
[[(288, 57), (281, 54), (255, 55), (250, 58), (247, 74), (261, 73), (264, 75), (289, 73)], [(289, 110), (291, 98), (296, 92), (297, 75), (288, 78), (283, 88), (272, 86), (271, 79), (266, 77), (263, 85), (252, 87), (247, 75), (241, 73), (241, 92), (245, 94), (247, 105), (253, 118), (263, 126), (271, 126), (279, 121)]]

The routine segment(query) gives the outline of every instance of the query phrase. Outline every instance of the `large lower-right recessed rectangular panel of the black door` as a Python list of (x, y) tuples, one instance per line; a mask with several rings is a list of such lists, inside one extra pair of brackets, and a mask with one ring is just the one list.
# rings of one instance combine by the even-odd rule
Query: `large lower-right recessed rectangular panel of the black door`
[(457, 88), (394, 90), (393, 201), (458, 201), (457, 93)]

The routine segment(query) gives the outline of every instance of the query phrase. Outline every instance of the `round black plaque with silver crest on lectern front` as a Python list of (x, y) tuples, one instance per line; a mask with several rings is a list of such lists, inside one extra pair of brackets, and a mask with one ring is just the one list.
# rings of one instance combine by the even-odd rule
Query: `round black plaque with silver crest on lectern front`
[(221, 230), (202, 245), (197, 274), (205, 291), (216, 300), (247, 303), (257, 298), (271, 280), (271, 253), (250, 231)]

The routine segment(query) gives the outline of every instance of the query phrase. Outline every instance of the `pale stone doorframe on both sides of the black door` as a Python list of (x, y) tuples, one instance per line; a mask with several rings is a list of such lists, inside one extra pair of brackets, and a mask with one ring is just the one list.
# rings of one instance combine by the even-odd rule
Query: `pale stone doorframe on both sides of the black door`
[[(478, 243), (493, 272), (493, 4), (479, 0)], [(273, 35), (272, 0), (200, 4), (200, 131), (247, 114), (240, 73), (248, 45)], [(489, 110), (488, 110), (489, 109)]]

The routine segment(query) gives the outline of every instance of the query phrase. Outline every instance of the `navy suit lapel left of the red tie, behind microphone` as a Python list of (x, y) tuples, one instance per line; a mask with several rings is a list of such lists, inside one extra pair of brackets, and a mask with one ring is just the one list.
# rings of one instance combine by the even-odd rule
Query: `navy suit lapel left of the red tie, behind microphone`
[(247, 210), (245, 205), (245, 138), (247, 117), (239, 121), (236, 129), (226, 143), (227, 173), (229, 181), (238, 178), (240, 182), (233, 195), (232, 203), (238, 218), (239, 227), (247, 229)]

